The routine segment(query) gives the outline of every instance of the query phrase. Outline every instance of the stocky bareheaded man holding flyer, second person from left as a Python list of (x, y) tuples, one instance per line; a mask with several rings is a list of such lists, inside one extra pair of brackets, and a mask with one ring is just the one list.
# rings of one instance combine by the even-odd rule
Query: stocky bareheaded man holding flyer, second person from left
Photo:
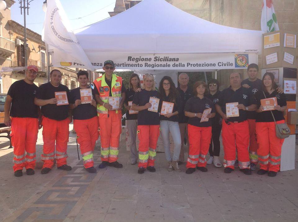
[(50, 82), (38, 88), (34, 99), (35, 105), (41, 106), (43, 115), (42, 174), (50, 172), (54, 165), (55, 141), (57, 168), (71, 170), (71, 167), (66, 164), (69, 123), (72, 121), (68, 103), (69, 89), (60, 83), (62, 75), (59, 70), (53, 69), (50, 77)]

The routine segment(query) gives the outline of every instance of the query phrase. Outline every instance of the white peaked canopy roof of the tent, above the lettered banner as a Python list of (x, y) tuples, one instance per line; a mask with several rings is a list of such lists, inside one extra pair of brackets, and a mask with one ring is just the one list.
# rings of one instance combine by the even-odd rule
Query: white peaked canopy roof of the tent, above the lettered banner
[(88, 53), (260, 52), (261, 31), (190, 15), (165, 0), (143, 0), (104, 21), (75, 30)]

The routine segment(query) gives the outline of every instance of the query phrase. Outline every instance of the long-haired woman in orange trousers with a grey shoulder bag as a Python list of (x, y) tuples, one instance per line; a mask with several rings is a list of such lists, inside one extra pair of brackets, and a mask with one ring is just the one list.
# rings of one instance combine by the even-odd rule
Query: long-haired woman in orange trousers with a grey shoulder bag
[[(260, 163), (260, 170), (257, 172), (259, 175), (268, 173), (268, 176), (276, 176), (279, 171), (280, 155), (284, 139), (276, 136), (274, 122), (276, 121), (277, 124), (285, 123), (283, 112), (287, 109), (287, 100), (285, 94), (280, 94), (276, 91), (277, 88), (278, 86), (274, 82), (273, 73), (266, 72), (262, 79), (262, 90), (255, 96), (259, 107), (256, 110), (258, 115), (255, 121), (255, 131), (259, 144), (257, 150)], [(264, 110), (265, 107), (261, 105), (261, 99), (274, 97), (277, 100), (274, 110)]]

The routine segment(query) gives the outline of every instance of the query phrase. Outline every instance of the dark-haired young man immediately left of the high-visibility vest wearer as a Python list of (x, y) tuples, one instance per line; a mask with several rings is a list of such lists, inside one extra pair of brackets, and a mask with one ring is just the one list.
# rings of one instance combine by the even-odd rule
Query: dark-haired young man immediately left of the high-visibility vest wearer
[(88, 88), (88, 72), (77, 73), (79, 87), (70, 91), (70, 109), (73, 110), (74, 129), (80, 144), (84, 168), (89, 173), (96, 173), (93, 161), (95, 142), (98, 139), (98, 117), (94, 90)]

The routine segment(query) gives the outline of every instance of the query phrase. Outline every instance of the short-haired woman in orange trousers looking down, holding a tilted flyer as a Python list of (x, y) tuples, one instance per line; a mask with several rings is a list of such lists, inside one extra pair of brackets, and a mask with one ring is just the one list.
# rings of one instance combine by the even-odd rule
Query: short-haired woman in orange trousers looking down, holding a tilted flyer
[[(189, 151), (186, 164), (186, 173), (191, 174), (196, 171), (196, 168), (202, 172), (207, 172), (206, 155), (208, 153), (212, 122), (211, 118), (215, 116), (214, 103), (206, 98), (207, 85), (203, 81), (198, 81), (193, 86), (194, 97), (190, 98), (184, 108), (184, 113), (188, 119), (188, 140)], [(211, 112), (206, 115), (209, 118), (207, 121), (201, 122), (205, 109), (211, 108)]]

